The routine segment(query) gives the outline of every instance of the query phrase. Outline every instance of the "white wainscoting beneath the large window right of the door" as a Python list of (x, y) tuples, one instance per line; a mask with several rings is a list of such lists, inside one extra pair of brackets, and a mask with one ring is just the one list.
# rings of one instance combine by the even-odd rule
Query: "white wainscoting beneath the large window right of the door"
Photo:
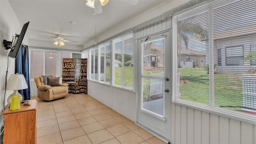
[(255, 144), (255, 125), (171, 104), (172, 144)]

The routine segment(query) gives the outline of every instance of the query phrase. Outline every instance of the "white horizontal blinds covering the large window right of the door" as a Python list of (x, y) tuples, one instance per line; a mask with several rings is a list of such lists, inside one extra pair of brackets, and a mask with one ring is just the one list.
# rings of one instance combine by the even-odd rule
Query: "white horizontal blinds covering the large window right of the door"
[(174, 100), (255, 121), (256, 1), (209, 2), (173, 28)]

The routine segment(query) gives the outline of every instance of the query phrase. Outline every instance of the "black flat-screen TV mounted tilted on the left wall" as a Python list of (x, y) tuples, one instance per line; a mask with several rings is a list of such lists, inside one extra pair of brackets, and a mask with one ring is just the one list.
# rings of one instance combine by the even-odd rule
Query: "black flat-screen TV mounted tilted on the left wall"
[(10, 50), (10, 53), (8, 56), (10, 56), (11, 58), (16, 58), (17, 54), (20, 50), (20, 45), (22, 43), (22, 40), (25, 36), (26, 30), (28, 28), (28, 24), (29, 22), (27, 22), (26, 24), (23, 25), (22, 30), (20, 32), (20, 35), (16, 35), (16, 37), (18, 37), (18, 39), (14, 40), (14, 43), (12, 44), (12, 48)]

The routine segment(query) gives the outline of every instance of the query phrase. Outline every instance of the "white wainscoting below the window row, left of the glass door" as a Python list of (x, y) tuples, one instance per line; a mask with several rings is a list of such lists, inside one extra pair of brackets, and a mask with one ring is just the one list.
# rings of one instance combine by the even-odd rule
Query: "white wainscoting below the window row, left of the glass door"
[(137, 121), (136, 93), (88, 80), (88, 95), (130, 120)]

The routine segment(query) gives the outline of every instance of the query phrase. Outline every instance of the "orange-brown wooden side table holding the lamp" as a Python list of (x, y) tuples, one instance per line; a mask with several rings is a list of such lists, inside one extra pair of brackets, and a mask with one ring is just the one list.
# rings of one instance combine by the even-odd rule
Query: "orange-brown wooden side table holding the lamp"
[(19, 110), (6, 108), (4, 115), (4, 144), (36, 143), (36, 100), (30, 106), (20, 104)]

